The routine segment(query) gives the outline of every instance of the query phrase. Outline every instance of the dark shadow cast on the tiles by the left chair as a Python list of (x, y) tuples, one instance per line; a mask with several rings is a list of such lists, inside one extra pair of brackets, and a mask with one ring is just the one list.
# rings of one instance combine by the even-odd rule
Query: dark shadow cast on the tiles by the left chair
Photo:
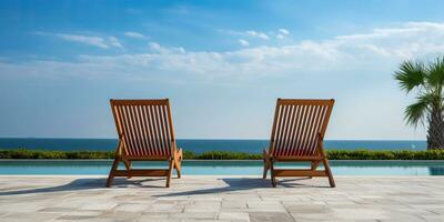
[[(125, 178), (115, 178), (113, 185), (111, 188), (165, 188), (164, 185), (148, 185), (143, 184), (147, 181), (158, 181), (164, 179), (142, 179), (142, 180), (127, 180)], [(19, 195), (19, 194), (36, 194), (36, 193), (52, 193), (52, 192), (63, 192), (63, 191), (81, 191), (81, 190), (93, 190), (105, 188), (105, 178), (82, 178), (71, 181), (68, 184), (50, 186), (50, 188), (33, 188), (24, 190), (13, 190), (13, 191), (0, 191), (0, 196), (2, 195)]]

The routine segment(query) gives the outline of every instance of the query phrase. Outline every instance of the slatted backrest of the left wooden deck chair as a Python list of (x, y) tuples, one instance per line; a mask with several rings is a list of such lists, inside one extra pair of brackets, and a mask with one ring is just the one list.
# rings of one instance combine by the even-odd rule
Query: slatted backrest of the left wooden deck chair
[(111, 100), (123, 153), (130, 157), (171, 157), (175, 149), (170, 102)]

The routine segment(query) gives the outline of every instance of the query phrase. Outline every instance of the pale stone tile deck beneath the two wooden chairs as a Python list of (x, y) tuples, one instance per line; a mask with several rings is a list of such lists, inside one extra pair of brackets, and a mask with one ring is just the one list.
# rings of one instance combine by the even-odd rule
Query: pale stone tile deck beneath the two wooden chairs
[(0, 221), (444, 221), (444, 176), (0, 176)]

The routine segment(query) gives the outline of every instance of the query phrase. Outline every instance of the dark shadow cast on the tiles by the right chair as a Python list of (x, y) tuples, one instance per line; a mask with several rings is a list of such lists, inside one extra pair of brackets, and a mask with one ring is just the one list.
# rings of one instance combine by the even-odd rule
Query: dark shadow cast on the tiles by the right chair
[[(260, 188), (270, 188), (274, 189), (271, 184), (270, 179), (253, 179), (253, 178), (224, 178), (219, 179), (222, 180), (226, 186), (223, 188), (212, 188), (212, 189), (203, 189), (203, 190), (192, 190), (192, 191), (183, 191), (183, 192), (175, 192), (175, 193), (165, 193), (159, 194), (155, 196), (178, 196), (178, 195), (199, 195), (199, 194), (214, 194), (214, 193), (223, 193), (223, 192), (236, 192), (236, 191), (245, 191), (252, 189), (260, 189)], [(330, 188), (330, 186), (317, 186), (317, 185), (310, 185), (304, 183), (294, 183), (295, 181), (303, 181), (310, 180), (309, 178), (296, 178), (296, 179), (286, 179), (278, 181), (278, 186), (284, 188)], [(292, 183), (287, 183), (292, 182)]]

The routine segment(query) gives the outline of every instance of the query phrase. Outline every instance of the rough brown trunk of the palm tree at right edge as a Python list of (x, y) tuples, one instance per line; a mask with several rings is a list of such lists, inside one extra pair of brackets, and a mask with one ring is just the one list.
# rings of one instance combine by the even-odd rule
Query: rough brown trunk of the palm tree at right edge
[(444, 150), (444, 120), (441, 109), (433, 109), (428, 117), (427, 150)]

